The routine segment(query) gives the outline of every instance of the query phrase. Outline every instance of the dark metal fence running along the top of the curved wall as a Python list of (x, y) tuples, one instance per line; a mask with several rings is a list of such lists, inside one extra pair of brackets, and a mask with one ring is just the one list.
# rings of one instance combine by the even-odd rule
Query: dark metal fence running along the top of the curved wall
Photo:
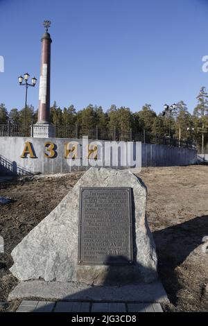
[[(88, 136), (89, 139), (100, 139), (109, 141), (141, 141), (144, 144), (161, 144), (175, 147), (186, 147), (196, 149), (196, 143), (193, 139), (176, 139), (169, 137), (159, 137), (153, 135), (146, 130), (121, 130), (118, 128), (103, 129), (84, 129), (69, 125), (55, 125), (56, 138), (72, 138), (81, 139), (83, 136)], [(0, 124), (0, 137), (31, 137), (33, 135), (33, 124), (24, 128), (22, 125), (14, 123)]]

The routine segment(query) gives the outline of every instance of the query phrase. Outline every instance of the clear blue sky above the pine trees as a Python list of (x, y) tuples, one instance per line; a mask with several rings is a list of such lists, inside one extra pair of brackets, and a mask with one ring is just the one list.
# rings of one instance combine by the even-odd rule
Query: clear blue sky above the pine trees
[[(51, 104), (135, 112), (150, 103), (160, 112), (183, 100), (192, 112), (208, 88), (208, 0), (0, 0), (0, 13), (0, 102), (8, 110), (24, 106), (17, 77), (40, 77), (44, 19), (52, 21)], [(38, 85), (28, 103), (37, 108)]]

